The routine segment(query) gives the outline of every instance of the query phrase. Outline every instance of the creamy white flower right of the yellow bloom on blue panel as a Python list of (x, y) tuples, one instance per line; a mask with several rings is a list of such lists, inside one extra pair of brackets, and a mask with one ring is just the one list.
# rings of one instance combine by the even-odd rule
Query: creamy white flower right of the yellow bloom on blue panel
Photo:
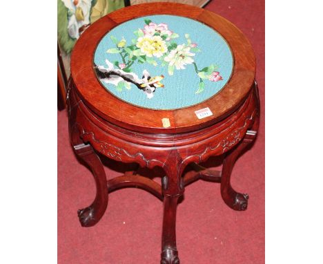
[[(169, 66), (177, 70), (183, 70), (186, 64), (192, 64), (195, 53), (190, 53), (190, 47), (183, 45), (178, 45), (174, 50), (170, 50), (170, 53), (164, 58), (165, 62), (169, 62)], [(172, 75), (172, 74), (170, 74)]]

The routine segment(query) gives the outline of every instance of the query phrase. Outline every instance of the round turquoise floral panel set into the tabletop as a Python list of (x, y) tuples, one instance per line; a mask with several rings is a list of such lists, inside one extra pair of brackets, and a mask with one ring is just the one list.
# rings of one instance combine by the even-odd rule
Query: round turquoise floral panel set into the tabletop
[(106, 90), (148, 109), (181, 109), (218, 93), (233, 70), (226, 41), (184, 17), (152, 15), (113, 28), (99, 42), (95, 71)]

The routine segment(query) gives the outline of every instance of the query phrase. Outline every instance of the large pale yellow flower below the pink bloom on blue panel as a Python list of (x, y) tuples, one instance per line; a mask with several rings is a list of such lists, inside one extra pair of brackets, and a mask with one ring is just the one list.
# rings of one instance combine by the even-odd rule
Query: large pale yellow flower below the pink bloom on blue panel
[(161, 57), (167, 52), (166, 42), (160, 36), (144, 36), (137, 40), (137, 47), (147, 57)]

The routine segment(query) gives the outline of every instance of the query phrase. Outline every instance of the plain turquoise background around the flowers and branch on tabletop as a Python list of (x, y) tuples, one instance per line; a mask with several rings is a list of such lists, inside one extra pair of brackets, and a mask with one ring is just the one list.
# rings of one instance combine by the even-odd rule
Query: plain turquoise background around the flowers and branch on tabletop
[(121, 100), (141, 106), (148, 109), (180, 109), (194, 104), (199, 104), (208, 98), (218, 93), (231, 77), (233, 70), (233, 55), (228, 47), (228, 44), (224, 39), (212, 28), (195, 21), (193, 19), (187, 19), (184, 17), (177, 17), (172, 15), (152, 15), (148, 17), (140, 17), (133, 19), (125, 23), (120, 24), (116, 28), (113, 28), (108, 32), (103, 39), (101, 39), (97, 50), (95, 51), (95, 64), (99, 66), (106, 66), (106, 59), (110, 62), (119, 61), (121, 57), (119, 54), (106, 53), (108, 48), (115, 48), (115, 44), (110, 39), (110, 36), (115, 36), (118, 40), (124, 37), (126, 39), (126, 46), (131, 44), (131, 39), (137, 39), (133, 34), (138, 28), (144, 28), (146, 25), (144, 19), (150, 19), (153, 23), (166, 23), (168, 29), (177, 33), (179, 37), (173, 39), (178, 45), (186, 44), (185, 34), (190, 35), (192, 43), (196, 43), (201, 50), (199, 53), (195, 53), (193, 57), (199, 70), (211, 64), (217, 65), (217, 71), (222, 76), (223, 80), (219, 82), (211, 82), (208, 79), (204, 79), (205, 88), (202, 93), (195, 94), (199, 86), (199, 77), (195, 73), (193, 64), (187, 64), (184, 70), (174, 70), (174, 75), (168, 75), (167, 66), (161, 67), (159, 59), (154, 58), (158, 63), (158, 66), (151, 64), (139, 64), (135, 62), (131, 68), (133, 73), (136, 73), (139, 77), (142, 76), (144, 69), (148, 70), (150, 76), (164, 75), (164, 79), (161, 83), (164, 84), (164, 88), (156, 88), (154, 97), (148, 99), (146, 94), (139, 90), (137, 86), (131, 84), (131, 89), (127, 90), (123, 88), (122, 91), (117, 91), (116, 86), (113, 84), (101, 84), (113, 95)]

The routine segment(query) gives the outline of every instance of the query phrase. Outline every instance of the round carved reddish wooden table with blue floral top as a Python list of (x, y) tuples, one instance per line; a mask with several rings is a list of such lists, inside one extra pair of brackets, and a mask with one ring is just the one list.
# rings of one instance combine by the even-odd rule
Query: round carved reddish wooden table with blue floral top
[[(230, 178), (238, 155), (257, 134), (255, 55), (226, 19), (177, 3), (112, 12), (77, 41), (67, 102), (70, 142), (92, 169), (97, 187), (92, 204), (78, 211), (82, 226), (98, 223), (109, 192), (146, 189), (164, 201), (161, 263), (179, 263), (176, 209), (186, 185), (198, 179), (220, 182), (228, 207), (247, 208), (248, 195), (237, 193)], [(161, 185), (135, 171), (107, 181), (97, 152), (161, 167), (165, 176)], [(222, 171), (198, 165), (213, 155), (224, 155)], [(182, 175), (188, 164), (196, 172)]]

